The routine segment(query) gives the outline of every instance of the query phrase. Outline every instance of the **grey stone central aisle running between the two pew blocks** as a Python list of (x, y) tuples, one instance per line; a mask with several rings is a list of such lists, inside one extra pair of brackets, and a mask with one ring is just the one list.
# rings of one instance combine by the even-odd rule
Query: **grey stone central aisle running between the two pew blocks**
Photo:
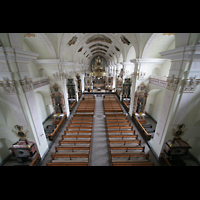
[(110, 155), (108, 148), (103, 97), (96, 97), (90, 152), (90, 166), (110, 166)]

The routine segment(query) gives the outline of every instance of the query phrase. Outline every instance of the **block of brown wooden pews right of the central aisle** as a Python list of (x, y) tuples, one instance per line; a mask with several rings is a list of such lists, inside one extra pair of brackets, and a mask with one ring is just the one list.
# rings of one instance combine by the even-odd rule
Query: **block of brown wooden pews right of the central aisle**
[[(112, 98), (110, 103), (117, 105), (118, 101)], [(126, 114), (123, 111), (117, 113), (115, 108), (113, 113), (106, 113), (107, 104), (108, 102), (104, 101), (111, 165), (153, 166), (154, 163), (149, 162), (149, 155), (144, 153), (145, 147), (141, 146), (141, 140), (138, 140)], [(118, 110), (117, 107), (116, 109)]]

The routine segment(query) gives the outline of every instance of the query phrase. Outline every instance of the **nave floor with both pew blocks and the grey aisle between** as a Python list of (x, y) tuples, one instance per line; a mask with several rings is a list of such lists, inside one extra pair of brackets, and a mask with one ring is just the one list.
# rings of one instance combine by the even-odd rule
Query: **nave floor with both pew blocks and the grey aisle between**
[[(103, 96), (96, 94), (95, 100), (93, 100), (95, 101), (94, 110), (91, 110), (90, 104), (90, 108), (87, 107), (87, 112), (82, 110), (82, 102), (91, 100), (93, 95), (88, 95), (89, 98), (87, 98), (87, 94), (84, 94), (84, 100), (81, 99), (80, 104), (71, 114), (70, 122), (64, 124), (58, 138), (55, 139), (54, 144), (42, 161), (42, 166), (159, 165), (115, 95), (105, 94), (105, 97)], [(108, 107), (108, 109), (105, 108), (106, 101), (117, 103), (118, 110), (116, 111), (120, 110), (121, 112), (114, 110), (112, 112)], [(116, 120), (116, 118), (119, 119)], [(126, 119), (124, 123), (123, 119)], [(122, 126), (121, 131), (115, 130), (117, 127), (113, 121), (120, 122), (118, 126)], [(132, 125), (134, 134), (131, 134), (130, 127), (126, 127), (127, 124)], [(107, 125), (114, 130), (109, 130)], [(83, 129), (81, 129), (82, 127)], [(151, 156), (149, 156), (149, 153)], [(148, 160), (151, 162), (148, 162)], [(132, 164), (133, 161), (134, 164)]]

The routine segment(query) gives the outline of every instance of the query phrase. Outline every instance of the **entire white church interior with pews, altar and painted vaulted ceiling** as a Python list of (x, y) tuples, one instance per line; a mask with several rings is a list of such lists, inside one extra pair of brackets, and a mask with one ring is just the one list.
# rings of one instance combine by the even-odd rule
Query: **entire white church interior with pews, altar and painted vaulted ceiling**
[(0, 166), (200, 165), (199, 51), (199, 33), (0, 33)]

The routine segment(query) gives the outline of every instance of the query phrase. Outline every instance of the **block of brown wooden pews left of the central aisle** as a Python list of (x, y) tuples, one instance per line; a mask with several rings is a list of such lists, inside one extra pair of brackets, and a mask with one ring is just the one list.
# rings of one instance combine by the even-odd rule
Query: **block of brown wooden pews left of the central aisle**
[[(90, 100), (81, 100), (80, 108), (88, 101)], [(94, 106), (91, 104), (90, 109), (84, 110), (84, 113), (81, 113), (81, 109), (76, 110), (76, 114), (73, 115), (62, 135), (62, 140), (59, 141), (59, 146), (55, 147), (56, 152), (51, 154), (51, 163), (47, 163), (47, 166), (89, 165), (93, 129), (93, 114), (89, 112), (94, 110)]]

